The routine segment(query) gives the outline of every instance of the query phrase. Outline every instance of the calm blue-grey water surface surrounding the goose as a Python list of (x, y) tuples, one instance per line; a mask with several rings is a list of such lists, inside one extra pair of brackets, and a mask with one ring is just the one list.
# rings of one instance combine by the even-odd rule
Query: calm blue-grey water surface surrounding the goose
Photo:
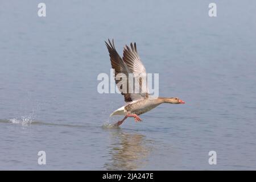
[[(46, 18), (39, 2), (0, 6), (0, 169), (256, 168), (255, 1), (215, 1), (215, 18), (210, 1), (44, 1)], [(160, 96), (186, 104), (102, 127), (123, 105), (97, 92), (108, 38), (137, 42)]]

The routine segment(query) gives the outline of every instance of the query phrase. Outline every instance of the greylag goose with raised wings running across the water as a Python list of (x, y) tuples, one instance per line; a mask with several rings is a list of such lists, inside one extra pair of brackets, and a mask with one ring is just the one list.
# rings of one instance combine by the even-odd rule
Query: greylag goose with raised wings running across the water
[[(131, 43), (130, 47), (124, 47), (123, 58), (118, 55), (114, 47), (114, 40), (112, 40), (111, 43), (108, 39), (108, 43), (105, 43), (109, 51), (112, 68), (115, 72), (115, 84), (126, 85), (127, 81), (129, 81), (130, 73), (137, 75), (138, 77), (135, 77), (135, 81), (139, 82), (139, 92), (137, 93), (125, 93), (122, 92), (122, 86), (118, 88), (121, 94), (125, 97), (126, 104), (110, 114), (110, 117), (112, 117), (112, 115), (125, 115), (121, 121), (116, 123), (117, 126), (122, 125), (123, 121), (128, 117), (133, 117), (135, 122), (141, 122), (142, 119), (139, 115), (146, 113), (163, 103), (185, 104), (184, 101), (177, 97), (151, 97), (150, 94), (148, 94), (148, 88), (143, 88), (141, 77), (146, 75), (146, 69), (139, 58), (136, 43)], [(127, 79), (118, 78), (118, 74), (125, 75)]]

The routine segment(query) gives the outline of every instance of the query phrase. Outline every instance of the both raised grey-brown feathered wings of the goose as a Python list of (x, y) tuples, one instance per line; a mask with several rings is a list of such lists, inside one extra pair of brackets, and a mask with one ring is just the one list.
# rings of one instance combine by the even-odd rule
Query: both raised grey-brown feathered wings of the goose
[[(118, 89), (121, 94), (125, 96), (125, 102), (147, 98), (147, 88), (142, 89), (144, 88), (143, 80), (146, 78), (144, 77), (146, 76), (146, 69), (139, 59), (136, 44), (134, 44), (134, 46), (131, 44), (131, 49), (126, 46), (123, 51), (122, 59), (114, 47), (114, 40), (112, 40), (112, 43), (110, 40), (108, 40), (108, 43), (105, 43), (109, 51), (112, 68), (115, 70), (115, 84), (118, 85)], [(131, 74), (134, 74), (134, 84), (133, 81), (129, 81), (129, 74), (130, 76)], [(123, 78), (122, 75), (125, 75), (126, 78)], [(136, 84), (139, 86), (134, 86)], [(123, 92), (123, 86), (127, 88), (126, 92)]]

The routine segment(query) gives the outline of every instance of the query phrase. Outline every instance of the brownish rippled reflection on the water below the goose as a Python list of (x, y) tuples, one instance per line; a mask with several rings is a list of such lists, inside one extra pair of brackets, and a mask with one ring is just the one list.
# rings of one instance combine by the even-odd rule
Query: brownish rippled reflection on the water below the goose
[(136, 170), (146, 165), (153, 142), (141, 134), (128, 134), (115, 130), (110, 136), (111, 159), (104, 164), (107, 170)]

